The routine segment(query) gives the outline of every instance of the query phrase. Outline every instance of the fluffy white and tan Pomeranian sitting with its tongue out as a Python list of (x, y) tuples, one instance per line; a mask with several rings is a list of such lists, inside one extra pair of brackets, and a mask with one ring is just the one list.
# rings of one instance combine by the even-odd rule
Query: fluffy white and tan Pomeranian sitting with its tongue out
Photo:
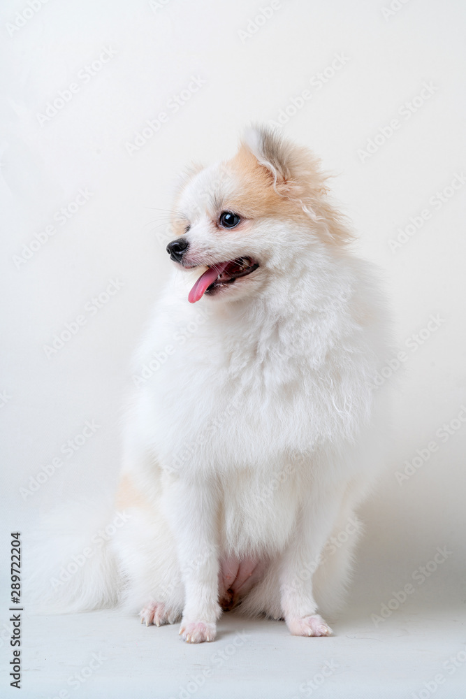
[[(222, 610), (326, 636), (384, 461), (387, 320), (349, 251), (319, 161), (250, 129), (191, 168), (173, 208), (166, 285), (134, 361), (146, 373), (116, 499), (127, 521), (76, 575), (70, 607), (117, 598), (143, 623), (212, 641)], [(82, 572), (84, 575), (84, 572)]]

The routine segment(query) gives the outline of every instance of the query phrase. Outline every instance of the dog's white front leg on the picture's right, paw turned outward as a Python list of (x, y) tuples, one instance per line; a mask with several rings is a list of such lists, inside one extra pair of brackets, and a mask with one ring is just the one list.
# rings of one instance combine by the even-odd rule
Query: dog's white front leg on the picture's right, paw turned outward
[(296, 636), (328, 636), (317, 614), (312, 576), (339, 511), (342, 493), (314, 491), (303, 505), (296, 531), (282, 558), (280, 596), (286, 625)]

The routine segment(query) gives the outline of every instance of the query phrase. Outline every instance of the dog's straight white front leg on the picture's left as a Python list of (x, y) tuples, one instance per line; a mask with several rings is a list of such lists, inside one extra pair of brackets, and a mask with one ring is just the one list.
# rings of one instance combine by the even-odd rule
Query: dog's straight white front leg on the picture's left
[(168, 510), (177, 540), (184, 583), (180, 634), (185, 641), (213, 641), (218, 603), (218, 500), (214, 484), (178, 478), (170, 487)]

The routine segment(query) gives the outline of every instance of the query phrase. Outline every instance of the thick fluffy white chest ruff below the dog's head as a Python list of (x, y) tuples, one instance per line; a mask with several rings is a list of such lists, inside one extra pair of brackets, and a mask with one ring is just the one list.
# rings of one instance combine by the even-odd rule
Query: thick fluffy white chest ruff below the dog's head
[[(366, 338), (340, 306), (214, 308), (205, 317), (184, 299), (162, 301), (139, 361), (154, 347), (174, 348), (141, 387), (163, 466), (270, 473), (271, 464), (286, 468), (318, 445), (354, 438), (372, 367)], [(193, 331), (181, 342), (186, 328)]]

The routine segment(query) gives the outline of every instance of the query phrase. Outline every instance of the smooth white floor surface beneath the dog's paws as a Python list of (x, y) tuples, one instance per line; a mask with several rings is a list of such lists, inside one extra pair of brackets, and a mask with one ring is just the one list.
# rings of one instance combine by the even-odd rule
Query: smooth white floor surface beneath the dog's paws
[(228, 613), (217, 640), (201, 645), (182, 642), (177, 625), (147, 628), (113, 611), (25, 617), (22, 690), (3, 678), (0, 696), (466, 697), (464, 612), (403, 605), (376, 626), (371, 611), (349, 610), (328, 638), (293, 637), (284, 622)]

